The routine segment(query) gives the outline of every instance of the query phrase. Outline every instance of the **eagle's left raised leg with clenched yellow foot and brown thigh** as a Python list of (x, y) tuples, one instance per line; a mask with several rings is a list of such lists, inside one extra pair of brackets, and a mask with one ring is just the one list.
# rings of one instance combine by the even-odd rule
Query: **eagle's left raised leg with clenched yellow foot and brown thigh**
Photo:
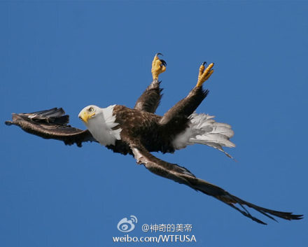
[(148, 113), (155, 113), (160, 99), (162, 98), (162, 89), (160, 88), (160, 82), (158, 76), (160, 73), (166, 70), (166, 62), (158, 58), (160, 53), (156, 54), (152, 62), (152, 76), (153, 81), (146, 90), (141, 94), (134, 106), (134, 109), (139, 111), (147, 111)]

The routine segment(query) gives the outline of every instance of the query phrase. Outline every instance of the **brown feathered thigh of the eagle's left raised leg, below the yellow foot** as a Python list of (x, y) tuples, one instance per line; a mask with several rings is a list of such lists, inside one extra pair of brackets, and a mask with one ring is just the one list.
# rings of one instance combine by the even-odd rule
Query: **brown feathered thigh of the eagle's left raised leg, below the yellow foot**
[(137, 99), (134, 108), (139, 111), (155, 113), (160, 104), (160, 99), (162, 99), (162, 88), (160, 88), (160, 82), (154, 79), (139, 99)]

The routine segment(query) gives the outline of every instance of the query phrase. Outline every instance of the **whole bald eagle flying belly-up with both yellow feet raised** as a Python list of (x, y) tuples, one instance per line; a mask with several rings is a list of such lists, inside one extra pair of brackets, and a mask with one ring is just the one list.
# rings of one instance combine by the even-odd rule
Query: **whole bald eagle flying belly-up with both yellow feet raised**
[(62, 108), (33, 113), (13, 113), (12, 121), (6, 121), (6, 125), (18, 125), (25, 132), (44, 139), (64, 141), (66, 145), (76, 143), (81, 147), (85, 141), (94, 141), (113, 152), (133, 155), (138, 164), (144, 164), (154, 174), (215, 197), (260, 224), (266, 225), (262, 220), (252, 216), (246, 206), (272, 220), (275, 220), (272, 216), (286, 220), (301, 219), (302, 215), (265, 209), (246, 202), (214, 184), (197, 178), (185, 167), (165, 162), (151, 154), (158, 151), (174, 153), (175, 150), (188, 145), (201, 143), (231, 157), (223, 147), (235, 147), (230, 141), (234, 134), (230, 125), (216, 122), (211, 115), (195, 113), (196, 108), (209, 93), (202, 85), (214, 72), (213, 63), (207, 68), (204, 66), (205, 62), (200, 66), (197, 85), (186, 98), (170, 108), (165, 115), (155, 115), (162, 97), (158, 76), (166, 70), (167, 65), (158, 55), (160, 53), (155, 55), (152, 62), (153, 82), (141, 94), (134, 108), (120, 105), (106, 108), (86, 106), (78, 115), (85, 123), (86, 130), (68, 125), (69, 115), (65, 115)]

